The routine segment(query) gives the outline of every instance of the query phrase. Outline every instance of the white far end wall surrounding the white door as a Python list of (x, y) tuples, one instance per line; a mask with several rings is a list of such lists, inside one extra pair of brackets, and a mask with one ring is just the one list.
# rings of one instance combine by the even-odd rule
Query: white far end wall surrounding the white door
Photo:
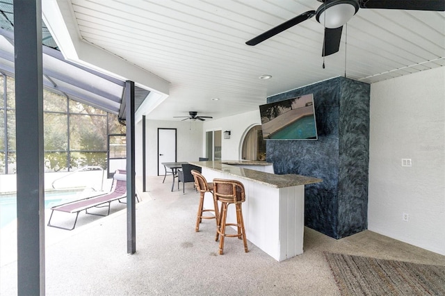
[[(177, 161), (197, 161), (203, 155), (202, 122), (146, 120), (146, 174), (158, 174), (158, 128), (177, 129)], [(136, 176), (142, 176), (142, 120), (136, 124)], [(163, 173), (163, 172), (162, 172)]]

